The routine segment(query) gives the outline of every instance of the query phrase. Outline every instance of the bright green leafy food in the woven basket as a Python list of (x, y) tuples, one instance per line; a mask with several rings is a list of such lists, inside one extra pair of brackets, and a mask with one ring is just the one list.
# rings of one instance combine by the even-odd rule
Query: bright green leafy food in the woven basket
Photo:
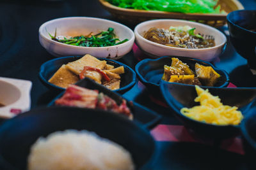
[[(106, 0), (120, 8), (181, 13), (223, 13), (217, 0)], [(225, 12), (224, 12), (225, 13)]]

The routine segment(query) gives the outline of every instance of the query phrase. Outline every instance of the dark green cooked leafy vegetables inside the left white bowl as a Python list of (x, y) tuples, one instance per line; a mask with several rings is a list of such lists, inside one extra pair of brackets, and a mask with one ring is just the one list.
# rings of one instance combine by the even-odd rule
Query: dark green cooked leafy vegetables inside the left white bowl
[(58, 41), (60, 43), (64, 43), (67, 45), (76, 45), (76, 46), (92, 46), (92, 47), (102, 47), (102, 46), (113, 46), (122, 44), (128, 39), (124, 39), (120, 41), (120, 39), (116, 38), (114, 33), (114, 29), (109, 27), (108, 31), (101, 31), (98, 34), (93, 35), (92, 32), (87, 36), (75, 36), (71, 38), (64, 37), (63, 39), (56, 38), (56, 30), (54, 36), (51, 36), (51, 39), (54, 41)]

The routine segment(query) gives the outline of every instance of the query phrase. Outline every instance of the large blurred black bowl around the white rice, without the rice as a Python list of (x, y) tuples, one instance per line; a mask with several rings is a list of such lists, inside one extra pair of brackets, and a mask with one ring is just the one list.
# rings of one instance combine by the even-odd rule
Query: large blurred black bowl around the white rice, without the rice
[(140, 124), (109, 111), (85, 108), (37, 108), (6, 120), (0, 127), (0, 169), (25, 170), (29, 149), (40, 136), (66, 129), (93, 131), (124, 146), (139, 169), (155, 150), (154, 139)]

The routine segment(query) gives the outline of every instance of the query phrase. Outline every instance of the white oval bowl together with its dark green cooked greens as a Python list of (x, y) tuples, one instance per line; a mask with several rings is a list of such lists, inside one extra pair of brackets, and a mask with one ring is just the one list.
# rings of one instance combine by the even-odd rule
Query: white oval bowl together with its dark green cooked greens
[(88, 53), (118, 59), (131, 51), (134, 33), (129, 27), (111, 20), (66, 17), (42, 24), (39, 41), (55, 57)]

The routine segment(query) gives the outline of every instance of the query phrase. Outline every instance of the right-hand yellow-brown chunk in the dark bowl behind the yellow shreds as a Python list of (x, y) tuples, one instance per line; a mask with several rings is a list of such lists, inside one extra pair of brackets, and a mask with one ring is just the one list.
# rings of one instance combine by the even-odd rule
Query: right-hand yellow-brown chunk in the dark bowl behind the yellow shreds
[(196, 75), (203, 85), (214, 86), (219, 80), (220, 74), (218, 74), (211, 66), (202, 66), (201, 64), (195, 64)]

